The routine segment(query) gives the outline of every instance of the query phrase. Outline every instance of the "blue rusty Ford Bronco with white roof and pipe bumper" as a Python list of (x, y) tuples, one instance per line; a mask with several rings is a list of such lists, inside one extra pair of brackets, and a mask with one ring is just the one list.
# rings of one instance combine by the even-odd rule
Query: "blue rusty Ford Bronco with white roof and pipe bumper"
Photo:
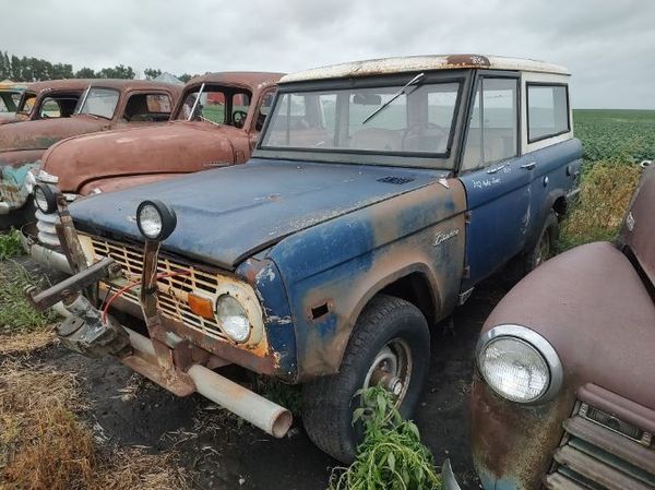
[(358, 390), (382, 385), (410, 416), (432, 326), (513, 258), (548, 256), (582, 156), (568, 83), (559, 65), (477, 55), (286, 75), (245, 165), (70, 210), (39, 186), (76, 274), (33, 300), (64, 300), (70, 347), (277, 437), (288, 413), (211, 368), (302, 383), (308, 434), (350, 461)]

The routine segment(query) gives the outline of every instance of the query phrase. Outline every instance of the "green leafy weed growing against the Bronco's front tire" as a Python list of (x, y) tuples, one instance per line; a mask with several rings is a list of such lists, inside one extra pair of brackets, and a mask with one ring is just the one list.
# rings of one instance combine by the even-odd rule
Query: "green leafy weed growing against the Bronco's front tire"
[(335, 468), (330, 490), (440, 490), (432, 455), (420, 442), (416, 425), (403, 420), (391, 395), (374, 386), (361, 392), (364, 442), (349, 468)]

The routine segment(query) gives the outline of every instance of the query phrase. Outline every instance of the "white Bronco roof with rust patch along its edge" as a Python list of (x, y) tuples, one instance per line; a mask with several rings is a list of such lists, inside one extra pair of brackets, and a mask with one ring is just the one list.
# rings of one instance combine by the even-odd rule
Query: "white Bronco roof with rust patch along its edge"
[(350, 61), (314, 68), (283, 76), (279, 83), (303, 82), (323, 79), (349, 79), (354, 76), (383, 75), (402, 72), (456, 70), (485, 68), (490, 70), (532, 71), (569, 75), (562, 65), (522, 58), (505, 58), (484, 55), (429, 55), (397, 58), (380, 58), (377, 60)]

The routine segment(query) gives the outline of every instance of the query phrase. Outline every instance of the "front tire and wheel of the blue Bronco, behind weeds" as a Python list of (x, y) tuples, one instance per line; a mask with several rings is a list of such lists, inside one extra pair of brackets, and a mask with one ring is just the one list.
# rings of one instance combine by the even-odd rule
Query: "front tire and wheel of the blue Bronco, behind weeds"
[(334, 458), (350, 463), (361, 442), (353, 426), (356, 392), (382, 384), (396, 397), (403, 417), (418, 404), (430, 363), (430, 333), (418, 308), (379, 295), (365, 308), (344, 352), (338, 374), (319, 378), (302, 390), (302, 420), (312, 442)]

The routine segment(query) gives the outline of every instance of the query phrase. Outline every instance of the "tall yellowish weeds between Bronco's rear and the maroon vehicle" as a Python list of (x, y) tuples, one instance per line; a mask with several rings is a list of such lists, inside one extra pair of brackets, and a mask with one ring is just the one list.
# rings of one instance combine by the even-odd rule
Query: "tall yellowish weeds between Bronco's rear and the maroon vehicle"
[(559, 248), (617, 237), (641, 176), (638, 165), (597, 162), (583, 169), (580, 196), (561, 226)]

